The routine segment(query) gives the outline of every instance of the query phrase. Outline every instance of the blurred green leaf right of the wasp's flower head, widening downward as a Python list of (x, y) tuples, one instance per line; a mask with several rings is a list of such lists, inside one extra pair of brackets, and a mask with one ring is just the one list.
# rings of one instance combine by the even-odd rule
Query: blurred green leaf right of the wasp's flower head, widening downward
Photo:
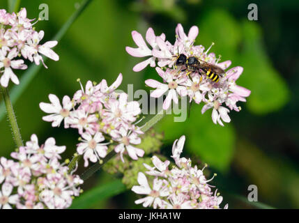
[(238, 84), (252, 91), (247, 105), (254, 114), (267, 114), (281, 109), (289, 101), (289, 89), (273, 68), (261, 43), (261, 30), (254, 22), (244, 21), (243, 50), (240, 64), (244, 67)]

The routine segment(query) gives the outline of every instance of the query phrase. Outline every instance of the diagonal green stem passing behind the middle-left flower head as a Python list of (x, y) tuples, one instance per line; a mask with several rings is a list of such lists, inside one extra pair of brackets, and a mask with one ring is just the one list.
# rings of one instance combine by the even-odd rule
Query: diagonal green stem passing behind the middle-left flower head
[[(155, 116), (153, 116), (153, 118), (151, 118), (150, 120), (148, 120), (148, 122), (146, 122), (144, 125), (141, 126), (141, 131), (142, 132), (146, 132), (147, 130), (149, 130), (151, 127), (153, 127), (153, 125), (155, 125), (155, 123), (158, 123), (158, 121), (160, 121), (163, 117), (164, 117), (165, 113), (162, 110), (161, 112), (158, 112), (158, 114), (156, 114)], [(81, 178), (82, 180), (86, 180), (87, 178), (91, 177), (96, 171), (98, 171), (99, 169), (102, 168), (102, 166), (108, 162), (109, 160), (112, 159), (112, 157), (114, 157), (114, 155), (116, 155), (117, 153), (113, 150), (110, 153), (108, 153), (106, 155), (106, 157), (102, 160), (101, 163), (97, 162), (96, 164), (93, 164), (92, 167), (90, 167), (89, 169), (87, 169), (82, 175)], [(74, 159), (73, 159), (74, 160)], [(72, 160), (72, 162), (73, 162)], [(70, 163), (72, 163), (70, 162)], [(76, 161), (74, 161), (76, 162)], [(70, 167), (70, 165), (69, 165)]]

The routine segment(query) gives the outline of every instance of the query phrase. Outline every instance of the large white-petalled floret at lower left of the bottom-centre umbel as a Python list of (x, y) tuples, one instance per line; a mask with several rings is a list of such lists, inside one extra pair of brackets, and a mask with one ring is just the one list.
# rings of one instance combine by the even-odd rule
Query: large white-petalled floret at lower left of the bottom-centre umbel
[(135, 203), (142, 203), (145, 208), (151, 206), (152, 204), (153, 208), (157, 208), (158, 206), (161, 207), (162, 199), (160, 197), (167, 197), (169, 195), (169, 191), (167, 190), (167, 187), (165, 187), (164, 181), (155, 178), (153, 180), (153, 189), (151, 189), (151, 187), (148, 185), (148, 180), (143, 173), (138, 173), (137, 180), (139, 186), (133, 186), (132, 191), (136, 194), (146, 194), (148, 196), (138, 199), (135, 201)]

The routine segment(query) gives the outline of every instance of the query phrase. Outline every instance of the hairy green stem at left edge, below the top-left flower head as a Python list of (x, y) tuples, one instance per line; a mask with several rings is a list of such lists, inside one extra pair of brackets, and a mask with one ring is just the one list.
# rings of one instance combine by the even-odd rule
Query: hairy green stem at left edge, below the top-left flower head
[(13, 105), (10, 102), (8, 89), (1, 86), (1, 91), (3, 95), (3, 100), (6, 105), (8, 120), (10, 122), (11, 130), (13, 133), (13, 140), (15, 141), (17, 148), (19, 148), (20, 146), (23, 146), (23, 141), (20, 134), (20, 129), (17, 126), (17, 118), (15, 118), (15, 112), (13, 112)]

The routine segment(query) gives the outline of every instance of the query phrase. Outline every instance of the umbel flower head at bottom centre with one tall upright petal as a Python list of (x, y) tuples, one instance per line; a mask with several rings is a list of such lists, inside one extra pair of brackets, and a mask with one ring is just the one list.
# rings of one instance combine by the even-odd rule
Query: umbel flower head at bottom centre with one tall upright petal
[[(157, 156), (152, 157), (153, 167), (144, 164), (148, 169), (146, 174), (153, 176), (153, 182), (148, 183), (148, 178), (142, 172), (138, 174), (139, 185), (132, 187), (136, 194), (146, 197), (138, 199), (135, 203), (142, 203), (144, 207), (161, 209), (217, 209), (220, 208), (222, 197), (217, 190), (212, 191), (209, 180), (204, 176), (203, 169), (192, 167), (191, 160), (181, 157), (185, 136), (174, 141), (172, 158), (176, 166), (169, 169), (169, 160), (162, 162)], [(150, 186), (152, 185), (152, 186)], [(228, 205), (224, 206), (228, 208)]]

